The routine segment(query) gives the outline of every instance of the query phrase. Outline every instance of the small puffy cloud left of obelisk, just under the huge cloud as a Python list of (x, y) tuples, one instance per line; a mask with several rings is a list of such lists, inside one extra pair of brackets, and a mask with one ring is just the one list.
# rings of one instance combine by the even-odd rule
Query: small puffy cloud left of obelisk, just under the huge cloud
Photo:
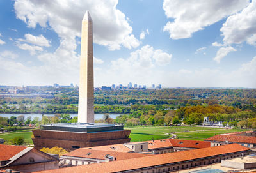
[(33, 45), (49, 47), (51, 41), (47, 40), (42, 34), (40, 36), (33, 36), (32, 34), (25, 34), (25, 39), (18, 38), (19, 41), (31, 43)]

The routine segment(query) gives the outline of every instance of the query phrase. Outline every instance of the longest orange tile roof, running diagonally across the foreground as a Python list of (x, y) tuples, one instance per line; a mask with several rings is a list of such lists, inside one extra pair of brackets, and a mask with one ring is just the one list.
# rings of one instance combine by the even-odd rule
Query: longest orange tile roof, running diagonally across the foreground
[(53, 169), (42, 172), (120, 172), (124, 170), (140, 169), (143, 167), (152, 167), (156, 165), (163, 165), (166, 163), (182, 162), (185, 160), (194, 160), (208, 156), (216, 156), (220, 154), (228, 154), (248, 150), (248, 148), (240, 146), (239, 144), (230, 144), (226, 146), (193, 149), (189, 151), (180, 151), (167, 154), (157, 154), (141, 158), (132, 158), (127, 160), (119, 160), (115, 162), (96, 163), (77, 167), (67, 167), (63, 169)]

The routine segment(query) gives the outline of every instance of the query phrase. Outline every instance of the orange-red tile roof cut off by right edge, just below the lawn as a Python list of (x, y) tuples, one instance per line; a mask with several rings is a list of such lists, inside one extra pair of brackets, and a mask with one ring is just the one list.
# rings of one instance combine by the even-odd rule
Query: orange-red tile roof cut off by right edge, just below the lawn
[(205, 139), (205, 141), (229, 141), (229, 142), (237, 142), (237, 143), (249, 143), (249, 144), (256, 144), (256, 137), (250, 136), (238, 136), (238, 135), (215, 135), (213, 137), (209, 137)]

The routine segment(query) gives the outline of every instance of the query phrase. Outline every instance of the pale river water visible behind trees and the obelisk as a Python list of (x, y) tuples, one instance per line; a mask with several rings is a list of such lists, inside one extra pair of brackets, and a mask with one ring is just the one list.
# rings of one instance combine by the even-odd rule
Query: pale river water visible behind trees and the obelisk
[[(33, 120), (35, 117), (39, 117), (39, 119), (42, 119), (42, 114), (0, 114), (0, 117), (8, 117), (10, 118), (11, 116), (15, 116), (18, 117), (20, 115), (23, 115), (25, 117), (25, 119), (27, 119), (27, 117), (31, 117), (31, 120)], [(45, 116), (54, 116), (54, 114), (44, 114)], [(70, 117), (75, 117), (77, 116), (77, 114), (70, 114)], [(102, 119), (102, 117), (104, 116), (104, 114), (94, 114), (94, 119), (98, 120), (98, 119)], [(109, 114), (109, 116), (113, 119), (115, 119), (117, 116), (120, 116), (120, 114)]]

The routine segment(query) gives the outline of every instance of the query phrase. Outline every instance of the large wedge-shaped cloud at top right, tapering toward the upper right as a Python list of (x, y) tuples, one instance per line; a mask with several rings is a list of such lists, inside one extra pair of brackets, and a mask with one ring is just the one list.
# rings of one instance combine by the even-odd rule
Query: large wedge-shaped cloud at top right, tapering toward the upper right
[(196, 31), (237, 13), (248, 3), (249, 0), (164, 0), (166, 17), (174, 19), (167, 22), (164, 31), (168, 31), (172, 39), (189, 38)]

